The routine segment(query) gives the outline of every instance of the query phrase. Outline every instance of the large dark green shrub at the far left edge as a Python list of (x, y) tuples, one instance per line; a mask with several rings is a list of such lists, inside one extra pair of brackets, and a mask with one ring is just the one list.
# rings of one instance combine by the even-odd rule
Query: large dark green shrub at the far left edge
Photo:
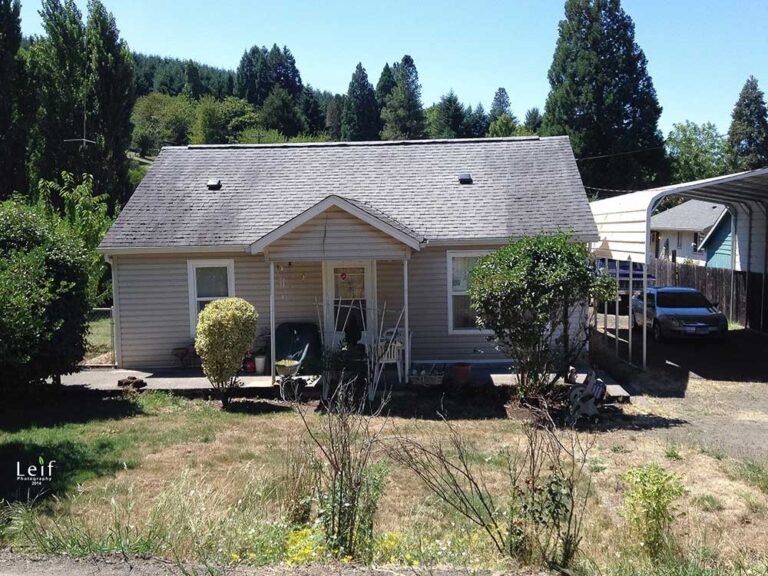
[(9, 200), (0, 204), (0, 261), (0, 382), (77, 370), (90, 312), (81, 241), (39, 208)]

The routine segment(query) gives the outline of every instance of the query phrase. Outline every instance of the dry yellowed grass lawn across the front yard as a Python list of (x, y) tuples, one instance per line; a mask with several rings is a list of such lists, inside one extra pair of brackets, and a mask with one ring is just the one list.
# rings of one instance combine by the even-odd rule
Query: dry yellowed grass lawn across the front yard
[[(734, 410), (732, 406), (709, 405), (705, 401), (707, 395), (731, 385), (717, 386), (692, 379), (688, 394), (695, 402), (654, 399), (626, 405), (612, 412), (600, 430), (594, 432), (587, 463), (594, 492), (585, 523), (583, 565), (605, 570), (637, 555), (622, 515), (626, 486), (621, 476), (632, 466), (655, 462), (679, 474), (685, 484), (686, 492), (674, 511), (674, 532), (687, 553), (704, 551), (726, 563), (768, 566), (768, 488), (761, 489), (759, 482), (738, 472), (738, 455), (703, 449), (701, 430), (691, 424), (697, 414), (704, 420), (729, 416), (732, 426), (739, 422), (765, 423), (768, 414), (749, 406)], [(237, 531), (246, 530), (248, 521), (267, 526), (284, 512), (280, 494), (289, 449), (304, 435), (297, 415), (285, 405), (264, 400), (242, 400), (230, 413), (222, 413), (212, 402), (160, 394), (147, 394), (130, 402), (136, 403), (135, 413), (117, 417), (101, 415), (66, 424), (34, 422), (31, 418), (25, 425), (24, 419), (17, 416), (15, 424), (0, 428), (0, 446), (18, 447), (26, 443), (39, 447), (54, 440), (70, 439), (73, 445), (95, 446), (96, 451), (101, 446), (102, 455), (107, 453), (112, 463), (92, 473), (73, 470), (76, 481), (61, 488), (59, 500), (49, 500), (29, 512), (34, 521), (49, 529), (54, 524), (64, 526), (58, 530), (59, 540), (69, 539), (70, 552), (74, 554), (90, 550), (84, 541), (98, 540), (100, 534), (125, 525), (134, 532), (126, 533), (124, 540), (138, 542), (132, 544), (132, 550), (141, 551), (145, 545), (152, 554), (163, 555), (162, 550), (153, 550), (149, 543), (142, 544), (144, 536), (138, 536), (143, 526), (157, 523), (159, 515), (169, 531), (191, 530), (186, 544), (173, 553), (181, 550), (192, 555), (197, 545), (195, 538), (203, 537), (200, 534), (205, 538), (219, 537), (208, 530), (210, 526), (204, 528), (204, 524), (226, 525), (237, 536), (228, 537), (235, 540), (231, 545), (219, 545), (221, 558), (248, 561), (249, 547), (260, 547), (258, 559), (253, 553), (254, 561), (268, 562), (269, 558), (262, 558), (267, 554), (264, 550), (271, 550), (272, 544), (262, 541), (263, 535), (240, 535)], [(428, 409), (423, 408), (422, 416), (428, 416)], [(477, 451), (479, 462), (493, 460), (523, 442), (524, 412), (504, 413), (511, 416), (453, 420), (456, 429)], [(322, 418), (314, 412), (309, 414), (313, 426), (320, 426)], [(385, 437), (407, 432), (412, 437), (434, 439), (446, 433), (445, 424), (436, 418), (399, 415), (382, 418), (381, 424)], [(709, 434), (715, 429), (707, 428)], [(726, 433), (733, 434), (733, 430)], [(66, 454), (61, 457), (66, 461)], [(504, 489), (500, 470), (488, 467), (487, 478), (492, 489)], [(243, 504), (249, 499), (255, 504)], [(225, 514), (223, 511), (228, 508), (235, 512)], [(233, 517), (240, 508), (247, 511), (250, 520), (241, 522), (242, 518)], [(42, 540), (30, 539), (25, 534), (22, 524), (27, 522), (24, 526), (28, 527), (32, 522), (28, 516), (24, 517), (26, 520), (18, 514), (8, 516), (3, 536), (6, 544), (46, 551), (39, 549)], [(195, 529), (189, 528), (190, 518), (200, 522), (197, 536)], [(442, 507), (411, 473), (392, 463), (376, 530), (380, 536), (397, 539), (396, 545), (387, 544), (396, 548), (396, 553), (383, 552), (377, 558), (380, 562), (394, 560), (407, 564), (410, 560), (404, 559), (404, 550), (410, 550), (412, 558), (426, 561), (429, 557), (435, 563), (441, 558), (446, 563), (461, 562), (464, 558), (468, 566), (501, 565), (476, 531)], [(77, 533), (77, 538), (73, 533)], [(134, 533), (136, 536), (132, 536)], [(45, 542), (50, 544), (52, 537), (47, 538)], [(79, 547), (72, 543), (73, 538), (79, 538)], [(427, 545), (431, 547), (429, 553), (419, 549)], [(444, 548), (445, 555), (435, 552), (435, 546)]]

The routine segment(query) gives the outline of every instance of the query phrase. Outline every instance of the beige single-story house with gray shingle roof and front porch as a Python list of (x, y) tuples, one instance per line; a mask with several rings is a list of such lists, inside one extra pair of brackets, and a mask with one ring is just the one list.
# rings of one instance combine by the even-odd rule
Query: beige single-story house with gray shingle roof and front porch
[(364, 332), (407, 327), (413, 362), (498, 360), (467, 275), (556, 230), (597, 239), (567, 137), (164, 148), (100, 246), (117, 363), (177, 365), (226, 296), (260, 329), (313, 322), (330, 341), (351, 302)]

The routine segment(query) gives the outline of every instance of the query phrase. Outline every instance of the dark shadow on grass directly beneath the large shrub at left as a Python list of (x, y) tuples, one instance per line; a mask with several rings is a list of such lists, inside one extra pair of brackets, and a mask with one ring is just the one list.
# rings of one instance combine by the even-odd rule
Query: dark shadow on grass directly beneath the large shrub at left
[(46, 384), (5, 399), (0, 407), (0, 431), (116, 420), (143, 413), (138, 402), (123, 395)]

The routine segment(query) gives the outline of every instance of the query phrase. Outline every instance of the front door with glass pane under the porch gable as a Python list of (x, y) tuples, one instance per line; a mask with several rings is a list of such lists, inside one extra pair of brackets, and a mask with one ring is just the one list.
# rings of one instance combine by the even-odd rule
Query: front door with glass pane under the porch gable
[(375, 263), (324, 262), (323, 292), (326, 346), (346, 338), (370, 342), (376, 333)]

